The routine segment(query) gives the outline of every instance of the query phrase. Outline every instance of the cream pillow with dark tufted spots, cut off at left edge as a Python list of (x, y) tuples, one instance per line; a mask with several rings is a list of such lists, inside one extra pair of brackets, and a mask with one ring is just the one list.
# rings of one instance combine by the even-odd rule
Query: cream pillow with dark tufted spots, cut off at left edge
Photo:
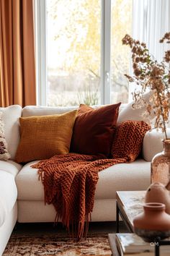
[(0, 111), (0, 160), (8, 160), (11, 155), (7, 150), (7, 142), (4, 135), (4, 121), (3, 121), (3, 112)]

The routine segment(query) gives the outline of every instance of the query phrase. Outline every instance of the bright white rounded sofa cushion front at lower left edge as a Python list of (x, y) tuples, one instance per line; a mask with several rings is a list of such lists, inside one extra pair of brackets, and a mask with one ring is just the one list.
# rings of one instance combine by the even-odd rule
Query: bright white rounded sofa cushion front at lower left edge
[(0, 226), (3, 225), (16, 200), (17, 187), (14, 176), (6, 171), (0, 171)]

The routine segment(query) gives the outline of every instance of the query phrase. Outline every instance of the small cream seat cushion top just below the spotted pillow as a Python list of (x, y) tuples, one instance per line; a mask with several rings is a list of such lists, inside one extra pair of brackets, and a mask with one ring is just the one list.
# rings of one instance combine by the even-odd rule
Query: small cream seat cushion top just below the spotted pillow
[(0, 173), (1, 173), (1, 171), (6, 171), (15, 177), (15, 176), (17, 176), (17, 174), (19, 173), (21, 168), (22, 168), (21, 164), (16, 163), (12, 160), (8, 160), (8, 161), (0, 160)]

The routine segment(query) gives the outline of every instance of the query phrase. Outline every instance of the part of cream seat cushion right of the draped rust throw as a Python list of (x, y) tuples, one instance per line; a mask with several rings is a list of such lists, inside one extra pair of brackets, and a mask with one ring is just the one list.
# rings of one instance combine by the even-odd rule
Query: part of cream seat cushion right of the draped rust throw
[(137, 159), (99, 172), (96, 199), (115, 199), (116, 191), (145, 190), (151, 184), (151, 163)]

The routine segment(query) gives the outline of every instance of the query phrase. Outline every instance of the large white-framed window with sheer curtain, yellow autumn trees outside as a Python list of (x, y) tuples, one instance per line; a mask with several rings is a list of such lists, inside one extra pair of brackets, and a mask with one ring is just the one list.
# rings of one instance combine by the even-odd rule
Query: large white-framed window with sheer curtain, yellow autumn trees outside
[(169, 0), (35, 0), (35, 10), (37, 103), (48, 106), (128, 103), (130, 48), (122, 38), (156, 52), (170, 29)]

